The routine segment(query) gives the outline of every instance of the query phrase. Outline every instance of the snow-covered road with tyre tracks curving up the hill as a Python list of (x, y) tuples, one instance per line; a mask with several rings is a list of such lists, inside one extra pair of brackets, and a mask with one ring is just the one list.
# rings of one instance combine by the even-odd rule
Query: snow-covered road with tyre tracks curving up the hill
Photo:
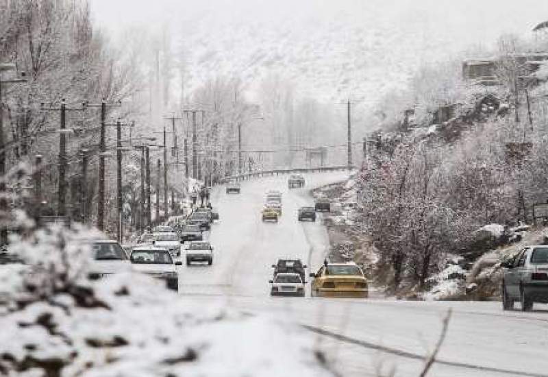
[[(442, 317), (453, 315), (445, 343), (429, 376), (548, 376), (548, 306), (503, 312), (497, 302), (403, 302), (323, 298), (271, 298), (268, 280), (277, 258), (298, 257), (315, 271), (323, 260), (327, 233), (316, 223), (299, 223), (297, 208), (312, 204), (309, 191), (343, 180), (346, 173), (306, 175), (306, 188), (287, 189), (287, 176), (242, 183), (240, 195), (216, 188), (212, 202), (220, 221), (210, 241), (214, 264), (182, 267), (179, 291), (207, 304), (225, 300), (247, 313), (269, 313), (322, 329), (311, 346), (325, 350), (343, 376), (418, 376), (440, 334)], [(279, 223), (262, 223), (264, 193), (283, 195)], [(307, 295), (310, 292), (307, 291)], [(268, 341), (268, 339), (265, 339)], [(384, 371), (379, 373), (378, 371)]]

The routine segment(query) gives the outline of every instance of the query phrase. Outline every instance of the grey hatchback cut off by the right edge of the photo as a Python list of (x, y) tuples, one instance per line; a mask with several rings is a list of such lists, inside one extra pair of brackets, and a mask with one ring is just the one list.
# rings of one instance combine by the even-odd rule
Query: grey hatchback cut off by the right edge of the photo
[(548, 245), (524, 247), (514, 258), (503, 262), (502, 308), (507, 311), (519, 301), (522, 311), (535, 302), (548, 303)]

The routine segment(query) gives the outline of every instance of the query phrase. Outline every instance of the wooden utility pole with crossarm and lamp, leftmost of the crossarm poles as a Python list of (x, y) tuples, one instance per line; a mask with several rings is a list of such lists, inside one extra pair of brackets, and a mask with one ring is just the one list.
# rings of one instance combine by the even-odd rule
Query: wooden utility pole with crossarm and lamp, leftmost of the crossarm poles
[(57, 215), (66, 216), (66, 134), (70, 134), (73, 130), (66, 129), (66, 112), (67, 111), (84, 111), (87, 104), (84, 102), (81, 108), (67, 108), (64, 99), (61, 100), (59, 108), (46, 108), (44, 104), (40, 104), (42, 111), (60, 111), (60, 129), (59, 129), (59, 178), (57, 192)]

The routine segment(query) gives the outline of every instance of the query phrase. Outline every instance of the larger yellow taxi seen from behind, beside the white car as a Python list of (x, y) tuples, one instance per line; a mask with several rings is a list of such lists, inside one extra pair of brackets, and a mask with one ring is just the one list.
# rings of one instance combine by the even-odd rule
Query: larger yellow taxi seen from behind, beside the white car
[(310, 284), (312, 297), (358, 297), (369, 295), (367, 280), (356, 263), (327, 263), (316, 272)]

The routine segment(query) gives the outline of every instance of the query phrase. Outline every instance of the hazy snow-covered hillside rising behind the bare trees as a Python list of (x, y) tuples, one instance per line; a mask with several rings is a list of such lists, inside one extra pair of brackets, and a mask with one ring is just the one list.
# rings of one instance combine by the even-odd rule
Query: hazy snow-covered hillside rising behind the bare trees
[[(453, 5), (459, 8), (453, 15), (434, 1), (256, 3), (245, 12), (241, 2), (238, 12), (212, 12), (219, 4), (210, 5), (172, 25), (175, 35), (179, 25), (182, 30), (188, 88), (216, 75), (257, 84), (264, 75), (283, 72), (310, 97), (369, 102), (405, 86), (420, 64), (447, 60), (470, 45), (491, 45), (510, 27), (523, 34), (537, 21), (523, 14), (516, 19), (508, 8), (490, 7), (493, 1), (475, 5), (477, 14), (466, 12), (471, 4), (462, 1)], [(495, 21), (491, 28), (488, 21)], [(469, 31), (477, 27), (484, 30), (479, 38)]]

